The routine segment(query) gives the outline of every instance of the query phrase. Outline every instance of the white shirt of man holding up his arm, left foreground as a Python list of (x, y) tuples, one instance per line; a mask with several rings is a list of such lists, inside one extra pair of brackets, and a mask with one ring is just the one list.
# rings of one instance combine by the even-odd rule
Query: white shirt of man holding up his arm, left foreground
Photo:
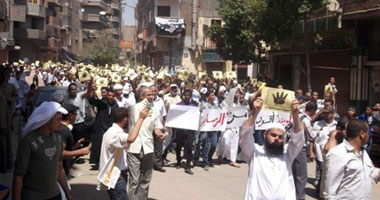
[(120, 172), (127, 169), (128, 134), (117, 124), (104, 133), (100, 151), (97, 190), (113, 189), (120, 177)]

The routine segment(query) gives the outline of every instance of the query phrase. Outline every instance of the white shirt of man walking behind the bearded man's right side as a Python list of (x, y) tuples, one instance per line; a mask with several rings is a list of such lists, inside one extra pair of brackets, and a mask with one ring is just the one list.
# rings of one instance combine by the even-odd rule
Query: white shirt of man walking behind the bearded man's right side
[(334, 120), (331, 124), (327, 124), (325, 120), (317, 121), (313, 126), (311, 131), (311, 138), (315, 138), (315, 157), (318, 161), (323, 162), (322, 149), (325, 147), (327, 141), (329, 140), (329, 134), (331, 131), (336, 129), (336, 121)]

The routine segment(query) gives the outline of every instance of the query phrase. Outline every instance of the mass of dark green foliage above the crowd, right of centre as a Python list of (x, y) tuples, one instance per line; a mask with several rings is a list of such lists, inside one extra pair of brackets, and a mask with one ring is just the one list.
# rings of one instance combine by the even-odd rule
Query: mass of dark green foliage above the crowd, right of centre
[(321, 7), (324, 0), (219, 0), (224, 24), (208, 31), (217, 52), (234, 63), (251, 63), (264, 52), (260, 42), (272, 46), (288, 40), (295, 26)]

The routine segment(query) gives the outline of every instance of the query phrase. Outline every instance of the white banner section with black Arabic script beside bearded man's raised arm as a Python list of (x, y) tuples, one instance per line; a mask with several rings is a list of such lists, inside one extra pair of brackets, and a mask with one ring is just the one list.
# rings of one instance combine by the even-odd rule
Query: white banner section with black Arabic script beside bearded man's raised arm
[(246, 106), (231, 107), (227, 111), (227, 128), (237, 128), (248, 118)]

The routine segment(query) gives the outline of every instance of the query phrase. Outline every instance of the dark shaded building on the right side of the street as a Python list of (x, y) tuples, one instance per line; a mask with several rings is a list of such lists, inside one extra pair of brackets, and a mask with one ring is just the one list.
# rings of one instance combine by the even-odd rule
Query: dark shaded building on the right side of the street
[[(288, 89), (307, 90), (307, 60), (313, 91), (323, 98), (324, 86), (336, 78), (338, 112), (348, 106), (362, 111), (380, 98), (380, 7), (377, 0), (339, 0), (336, 10), (299, 26), (294, 39), (269, 55), (274, 80)], [(320, 41), (305, 48), (305, 40)], [(306, 39), (305, 39), (306, 38)], [(308, 54), (308, 55), (307, 55)]]

